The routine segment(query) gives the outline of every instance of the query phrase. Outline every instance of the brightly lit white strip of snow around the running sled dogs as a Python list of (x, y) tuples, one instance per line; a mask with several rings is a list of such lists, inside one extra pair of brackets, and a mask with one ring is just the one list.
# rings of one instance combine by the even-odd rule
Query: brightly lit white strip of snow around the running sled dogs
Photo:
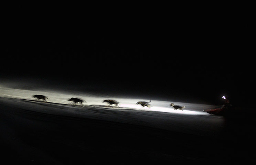
[[(123, 98), (123, 97), (111, 97), (111, 96), (94, 96), (89, 94), (72, 94), (72, 92), (60, 92), (60, 91), (39, 91), (39, 90), (24, 90), (24, 89), (12, 89), (6, 87), (0, 87), (0, 97), (7, 98), (18, 98), (18, 99), (26, 99), (26, 100), (36, 100), (33, 98), (33, 95), (44, 95), (48, 97), (47, 103), (58, 103), (58, 104), (69, 104), (73, 105), (71, 101), (67, 101), (72, 97), (77, 97), (84, 99), (86, 103), (83, 103), (84, 108), (86, 106), (107, 106), (107, 103), (103, 103), (102, 101), (105, 99), (114, 99), (119, 102), (119, 106), (115, 107), (114, 105), (108, 106), (108, 108), (113, 108), (113, 110), (124, 110), (124, 109), (133, 109), (139, 111), (158, 111), (158, 112), (167, 112), (167, 113), (177, 113), (177, 114), (191, 114), (191, 115), (209, 115), (206, 112), (202, 112), (203, 109), (212, 107), (206, 104), (194, 104), (194, 103), (184, 103), (184, 102), (173, 102), (173, 101), (159, 101), (152, 100), (149, 104), (150, 108), (142, 107), (140, 104), (136, 104), (138, 101), (150, 101), (142, 98)], [(42, 101), (42, 100), (41, 100)], [(175, 105), (186, 106), (184, 110), (174, 110), (173, 107), (170, 107), (170, 103), (174, 103)], [(81, 106), (81, 104), (77, 103), (77, 106)], [(105, 107), (107, 108), (107, 107)]]

